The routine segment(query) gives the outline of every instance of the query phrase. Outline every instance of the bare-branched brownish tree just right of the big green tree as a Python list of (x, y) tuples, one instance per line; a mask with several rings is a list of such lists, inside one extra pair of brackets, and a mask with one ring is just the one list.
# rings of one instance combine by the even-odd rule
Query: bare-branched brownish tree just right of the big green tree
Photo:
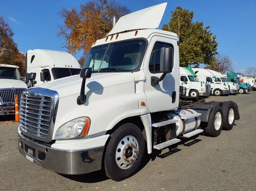
[(212, 65), (206, 66), (204, 68), (220, 72), (221, 74), (225, 74), (228, 71), (234, 70), (233, 62), (229, 56), (221, 54), (217, 54), (215, 56), (215, 62)]

